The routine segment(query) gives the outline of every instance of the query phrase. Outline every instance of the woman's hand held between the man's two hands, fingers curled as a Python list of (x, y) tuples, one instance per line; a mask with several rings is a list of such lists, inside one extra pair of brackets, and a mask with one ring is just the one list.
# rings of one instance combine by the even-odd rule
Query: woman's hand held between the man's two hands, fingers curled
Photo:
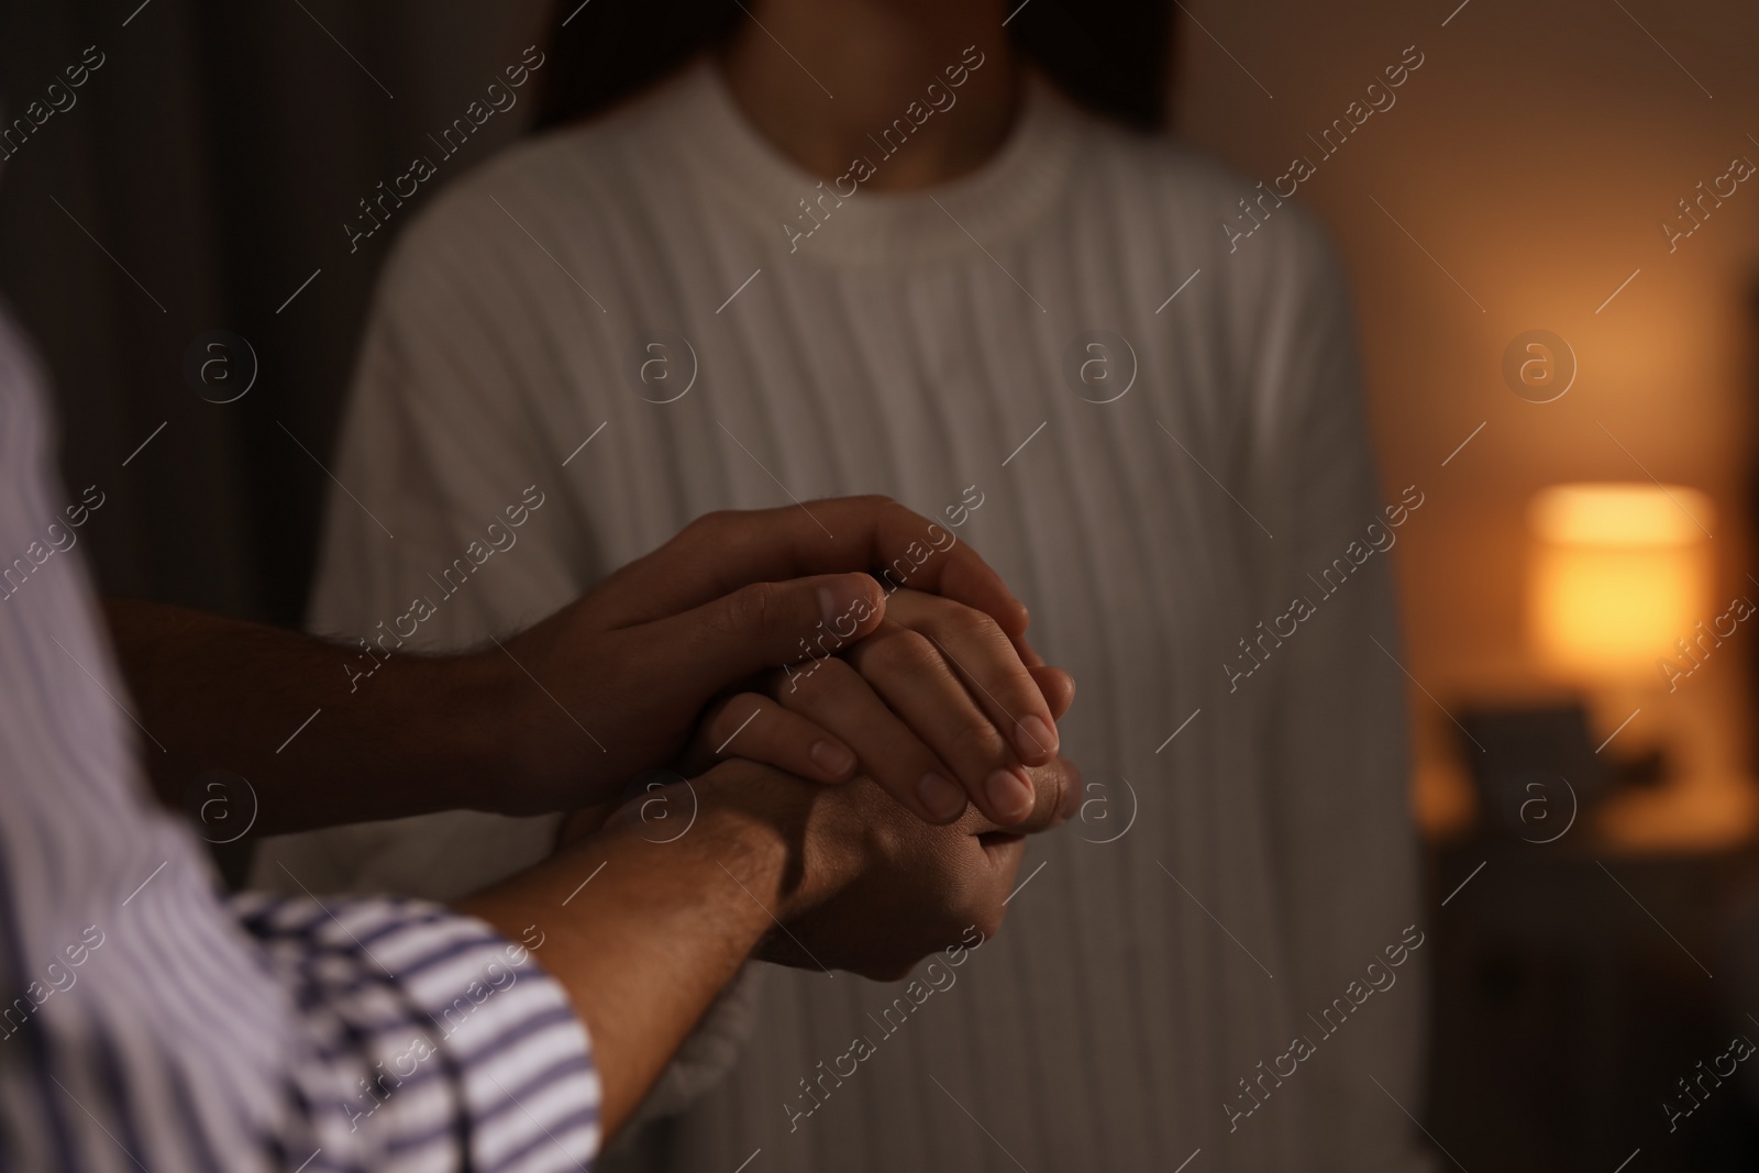
[(1011, 827), (1033, 811), (1027, 767), (1059, 760), (1055, 723), (1075, 698), (1066, 672), (1036, 661), (983, 612), (901, 589), (843, 656), (792, 665), (765, 681), (767, 695), (716, 705), (682, 767), (739, 756), (814, 777), (804, 747), (809, 730), (825, 730), (925, 821), (952, 823), (969, 800)]

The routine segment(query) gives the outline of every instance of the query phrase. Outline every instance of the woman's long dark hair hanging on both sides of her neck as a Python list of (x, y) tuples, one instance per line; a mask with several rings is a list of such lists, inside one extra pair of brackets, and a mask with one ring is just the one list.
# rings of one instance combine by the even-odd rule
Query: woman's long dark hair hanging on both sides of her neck
[[(1071, 98), (1120, 123), (1166, 123), (1171, 49), (1164, 0), (1027, 0), (1015, 47)], [(746, 19), (737, 0), (559, 0), (533, 128), (588, 118), (660, 81)]]

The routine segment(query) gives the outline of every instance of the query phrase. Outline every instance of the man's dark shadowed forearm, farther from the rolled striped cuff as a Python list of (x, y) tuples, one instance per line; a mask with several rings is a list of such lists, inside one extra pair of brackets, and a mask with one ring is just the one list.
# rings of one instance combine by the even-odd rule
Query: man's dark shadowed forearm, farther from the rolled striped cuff
[(281, 834), (484, 805), (514, 769), (501, 710), (531, 684), (491, 656), (398, 654), (359, 682), (343, 670), (355, 649), (297, 631), (134, 600), (104, 610), (169, 805), (230, 770), (257, 795), (255, 834)]

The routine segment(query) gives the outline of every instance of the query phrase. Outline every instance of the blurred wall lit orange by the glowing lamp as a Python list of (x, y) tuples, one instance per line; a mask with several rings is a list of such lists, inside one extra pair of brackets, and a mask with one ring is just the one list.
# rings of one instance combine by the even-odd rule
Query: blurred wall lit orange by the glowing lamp
[[(1754, 593), (1759, 179), (1675, 251), (1659, 225), (1734, 157), (1759, 162), (1759, 5), (1187, 0), (1177, 19), (1182, 134), (1254, 179), (1296, 155), (1317, 164), (1298, 199), (1351, 269), (1383, 477), (1428, 498), (1402, 531), (1400, 565), (1405, 663), (1423, 688), (1451, 707), (1541, 686), (1520, 642), (1520, 587), (1523, 508), (1546, 484), (1652, 473), (1704, 489), (1720, 598)], [(1397, 104), (1325, 157), (1307, 135), (1407, 46), (1423, 65)], [(1576, 353), (1555, 403), (1502, 380), (1504, 348), (1529, 329)], [(1745, 654), (1706, 663), (1690, 698), (1655, 705), (1620, 739), (1673, 721), (1697, 733), (1697, 769), (1741, 769)], [(1421, 693), (1412, 703), (1427, 758), (1446, 756), (1446, 716)]]

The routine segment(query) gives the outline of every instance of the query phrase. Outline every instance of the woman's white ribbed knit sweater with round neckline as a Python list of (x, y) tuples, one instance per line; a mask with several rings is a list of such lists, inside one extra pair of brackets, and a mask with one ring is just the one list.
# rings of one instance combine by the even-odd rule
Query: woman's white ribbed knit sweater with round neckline
[[(770, 971), (670, 1168), (756, 1147), (765, 1173), (1147, 1173), (1198, 1147), (1203, 1169), (1423, 1168), (1374, 1083), (1420, 1099), (1421, 950), (1335, 1038), (1309, 1020), (1416, 920), (1414, 844), (1402, 677), (1370, 640), (1397, 651), (1386, 557), (1330, 596), (1307, 579), (1383, 505), (1344, 283), (1289, 204), (1238, 237), (1249, 190), (1038, 84), (980, 172), (818, 204), (793, 239), (818, 179), (697, 65), (507, 151), (399, 243), (336, 466), (396, 538), (331, 499), (317, 630), (364, 635), (429, 596), (415, 642), (457, 647), (707, 510), (888, 492), (941, 515), (976, 485), (959, 535), (1080, 688), (1062, 744), (1105, 790), (1031, 844), (1006, 932), (883, 1038), (869, 1015), (897, 988)], [(1131, 359), (1089, 331), (1128, 339), (1115, 401), (1096, 403)], [(1080, 382), (1094, 357), (1110, 382)], [(445, 598), (429, 575), (533, 484), (517, 545)], [(1263, 638), (1295, 594), (1317, 614)], [(540, 858), (552, 827), (343, 828), (271, 842), (259, 876), (452, 897)], [(1317, 1053), (1233, 1117), (1258, 1103), (1238, 1082), (1303, 1032)], [(800, 1080), (860, 1034), (876, 1053), (793, 1118)]]

